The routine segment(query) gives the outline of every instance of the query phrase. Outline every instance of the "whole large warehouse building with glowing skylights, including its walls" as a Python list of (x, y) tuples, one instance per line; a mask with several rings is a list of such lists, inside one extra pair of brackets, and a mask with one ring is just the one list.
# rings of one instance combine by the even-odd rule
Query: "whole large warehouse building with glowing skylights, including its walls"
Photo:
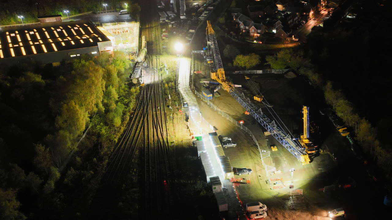
[(81, 54), (113, 53), (110, 36), (89, 20), (61, 22), (58, 16), (45, 16), (40, 22), (0, 29), (0, 63), (14, 65), (37, 60), (47, 64)]

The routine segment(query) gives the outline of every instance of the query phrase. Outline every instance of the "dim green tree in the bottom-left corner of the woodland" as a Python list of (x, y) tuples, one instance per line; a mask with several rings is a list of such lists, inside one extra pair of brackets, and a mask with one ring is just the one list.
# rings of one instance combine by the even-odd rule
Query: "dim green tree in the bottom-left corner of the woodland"
[(24, 216), (18, 209), (20, 202), (16, 199), (16, 190), (0, 188), (0, 219), (24, 220)]

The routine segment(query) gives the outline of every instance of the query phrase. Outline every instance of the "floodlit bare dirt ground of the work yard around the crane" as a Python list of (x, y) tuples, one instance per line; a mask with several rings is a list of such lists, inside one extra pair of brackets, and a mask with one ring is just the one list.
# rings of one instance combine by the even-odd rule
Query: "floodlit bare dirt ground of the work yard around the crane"
[[(197, 70), (195, 68), (195, 71)], [(252, 90), (250, 82), (247, 82), (243, 76), (230, 76), (230, 78), (234, 84), (241, 84), (244, 89)], [(251, 79), (254, 83), (253, 87), (257, 86), (257, 89), (263, 93), (270, 104), (274, 105), (274, 110), (290, 131), (302, 129), (301, 107), (309, 102), (307, 97), (303, 95), (306, 92), (305, 88), (298, 86), (298, 84), (306, 84), (303, 79), (285, 78), (283, 75), (274, 76), (273, 74), (272, 76), (251, 77)], [(194, 85), (199, 91), (203, 87), (200, 81), (211, 81), (209, 71), (194, 75)], [(213, 90), (213, 85), (211, 90)], [(269, 216), (266, 219), (328, 219), (325, 217), (327, 210), (332, 210), (335, 207), (333, 204), (330, 206), (330, 198), (319, 189), (332, 184), (330, 170), (336, 167), (336, 162), (332, 160), (330, 155), (319, 154), (312, 158), (310, 164), (303, 166), (272, 136), (264, 136), (263, 128), (252, 116), (244, 114), (245, 109), (229, 93), (223, 90), (219, 90), (219, 92), (220, 96), (214, 97), (211, 100), (212, 103), (234, 119), (244, 120), (245, 126), (252, 131), (258, 140), (261, 150), (270, 151), (272, 144), (278, 146), (278, 151), (270, 151), (270, 157), (265, 158), (264, 161), (282, 173), (266, 177), (259, 151), (249, 135), (212, 110), (201, 99), (198, 99), (202, 114), (205, 119), (218, 128), (218, 134), (227, 135), (237, 142), (236, 148), (224, 149), (232, 166), (253, 170), (250, 175), (236, 176), (251, 180), (250, 184), (240, 184), (238, 187), (241, 200), (244, 203), (255, 201), (265, 203), (269, 207), (267, 211)], [(254, 94), (253, 91), (245, 93), (249, 97)], [(295, 171), (291, 175), (290, 169), (292, 168)], [(277, 181), (270, 181), (271, 184), (267, 184), (266, 180), (270, 178), (282, 178), (286, 187), (278, 190), (271, 189), (274, 186), (273, 183)], [(281, 185), (281, 182), (278, 182)], [(296, 189), (302, 189), (303, 195), (294, 195), (290, 199), (290, 196), (287, 195), (290, 192), (290, 184), (294, 185)]]

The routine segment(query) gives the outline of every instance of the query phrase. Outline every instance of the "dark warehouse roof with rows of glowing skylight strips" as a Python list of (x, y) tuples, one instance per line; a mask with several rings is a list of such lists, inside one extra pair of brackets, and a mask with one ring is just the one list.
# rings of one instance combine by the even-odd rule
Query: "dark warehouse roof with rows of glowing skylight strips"
[(89, 20), (0, 29), (0, 59), (94, 47), (109, 41)]

